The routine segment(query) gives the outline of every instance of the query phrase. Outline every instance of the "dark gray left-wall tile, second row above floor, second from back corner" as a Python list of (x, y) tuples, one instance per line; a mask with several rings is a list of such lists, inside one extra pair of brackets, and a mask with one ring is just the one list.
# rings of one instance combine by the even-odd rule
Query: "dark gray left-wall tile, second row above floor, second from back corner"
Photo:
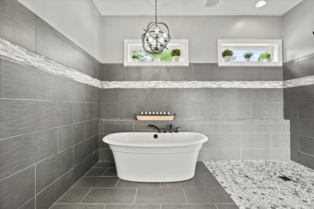
[(82, 160), (93, 153), (93, 138), (86, 139), (74, 145), (73, 165), (76, 166)]

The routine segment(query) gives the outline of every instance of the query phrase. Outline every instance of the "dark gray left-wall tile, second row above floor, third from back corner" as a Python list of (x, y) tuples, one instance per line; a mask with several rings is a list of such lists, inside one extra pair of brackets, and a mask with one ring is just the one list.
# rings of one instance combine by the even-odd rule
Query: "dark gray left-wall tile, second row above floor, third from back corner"
[(73, 147), (36, 164), (36, 193), (73, 168)]

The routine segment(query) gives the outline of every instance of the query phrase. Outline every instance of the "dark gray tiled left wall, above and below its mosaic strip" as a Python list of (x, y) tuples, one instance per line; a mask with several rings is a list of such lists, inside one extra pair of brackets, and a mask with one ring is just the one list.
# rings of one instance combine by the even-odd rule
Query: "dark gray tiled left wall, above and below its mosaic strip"
[[(101, 79), (96, 59), (20, 2), (0, 10), (1, 38)], [(98, 162), (98, 88), (0, 60), (0, 116), (0, 208), (48, 209)]]

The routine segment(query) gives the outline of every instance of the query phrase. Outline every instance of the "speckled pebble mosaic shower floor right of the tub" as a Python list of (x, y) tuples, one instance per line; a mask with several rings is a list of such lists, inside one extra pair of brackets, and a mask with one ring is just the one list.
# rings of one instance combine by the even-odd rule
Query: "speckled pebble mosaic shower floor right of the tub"
[(204, 163), (240, 209), (314, 209), (311, 168), (286, 161)]

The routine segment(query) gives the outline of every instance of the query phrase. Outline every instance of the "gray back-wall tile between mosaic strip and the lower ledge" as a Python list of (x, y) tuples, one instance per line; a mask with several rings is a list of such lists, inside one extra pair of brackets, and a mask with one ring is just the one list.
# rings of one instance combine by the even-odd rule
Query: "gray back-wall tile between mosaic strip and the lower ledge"
[(283, 89), (102, 89), (102, 95), (103, 118), (141, 111), (170, 111), (179, 119), (283, 118)]

